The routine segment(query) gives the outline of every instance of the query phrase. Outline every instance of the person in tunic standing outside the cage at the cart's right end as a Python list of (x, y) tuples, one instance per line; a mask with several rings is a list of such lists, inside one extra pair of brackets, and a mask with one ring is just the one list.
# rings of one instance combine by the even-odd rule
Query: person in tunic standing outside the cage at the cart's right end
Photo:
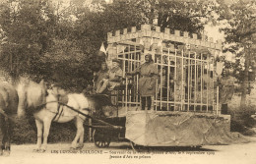
[(223, 76), (219, 78), (220, 85), (220, 103), (222, 104), (221, 113), (227, 114), (227, 104), (231, 100), (234, 93), (234, 77), (229, 73), (228, 69), (224, 69)]

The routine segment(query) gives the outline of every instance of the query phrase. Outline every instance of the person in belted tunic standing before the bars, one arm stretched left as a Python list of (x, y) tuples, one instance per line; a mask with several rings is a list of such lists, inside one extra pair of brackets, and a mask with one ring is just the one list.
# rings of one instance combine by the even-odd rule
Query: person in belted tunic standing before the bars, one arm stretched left
[(142, 110), (145, 110), (146, 101), (148, 110), (151, 110), (152, 97), (156, 94), (156, 85), (159, 73), (150, 53), (145, 56), (145, 63), (143, 65), (133, 72), (126, 73), (127, 76), (137, 74), (140, 75), (139, 94), (141, 96)]

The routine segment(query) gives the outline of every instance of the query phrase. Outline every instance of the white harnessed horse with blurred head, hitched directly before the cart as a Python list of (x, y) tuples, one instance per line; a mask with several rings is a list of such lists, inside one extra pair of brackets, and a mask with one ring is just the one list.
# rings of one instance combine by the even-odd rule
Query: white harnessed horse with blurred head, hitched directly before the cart
[[(87, 117), (72, 110), (70, 107), (86, 114), (93, 115), (101, 111), (102, 102), (109, 103), (108, 98), (102, 101), (96, 97), (86, 97), (83, 93), (65, 94), (63, 89), (54, 87), (46, 90), (44, 82), (35, 83), (29, 80), (18, 85), (19, 108), (18, 115), (32, 113), (37, 128), (37, 143), (35, 151), (44, 152), (47, 147), (47, 137), (51, 122), (66, 123), (75, 120), (77, 134), (72, 141), (71, 148), (84, 146), (84, 122)], [(106, 101), (105, 101), (106, 100)], [(100, 101), (100, 102), (99, 102)], [(65, 105), (66, 104), (66, 105)], [(27, 109), (27, 110), (25, 110)], [(43, 142), (41, 138), (43, 137)]]

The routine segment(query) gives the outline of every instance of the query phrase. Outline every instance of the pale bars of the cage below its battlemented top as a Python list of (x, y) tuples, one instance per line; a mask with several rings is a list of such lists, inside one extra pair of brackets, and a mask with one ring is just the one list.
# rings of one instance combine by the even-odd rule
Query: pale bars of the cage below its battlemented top
[[(144, 41), (147, 41), (147, 39)], [(118, 59), (122, 60), (123, 63), (124, 73), (134, 71), (140, 66), (142, 60), (142, 51), (139, 44), (135, 42), (129, 44), (130, 42), (132, 41), (126, 41), (125, 50), (121, 52), (119, 52), (119, 49), (117, 50)], [(179, 47), (170, 48), (165, 46), (164, 48), (160, 50), (155, 58), (160, 76), (157, 81), (155, 100), (153, 101), (154, 109), (157, 111), (196, 112), (218, 110), (216, 109), (219, 101), (218, 90), (214, 86), (214, 74), (211, 70), (213, 61), (211, 61), (210, 53), (204, 54), (196, 50), (180, 49)], [(152, 53), (154, 52), (153, 50)], [(133, 87), (130, 89), (126, 86), (126, 90), (123, 91), (123, 94), (126, 95), (123, 95), (118, 103), (122, 103), (122, 106), (126, 108), (137, 108), (141, 101), (138, 95), (139, 76), (134, 76), (131, 80), (125, 80), (125, 85), (130, 83), (133, 84)]]

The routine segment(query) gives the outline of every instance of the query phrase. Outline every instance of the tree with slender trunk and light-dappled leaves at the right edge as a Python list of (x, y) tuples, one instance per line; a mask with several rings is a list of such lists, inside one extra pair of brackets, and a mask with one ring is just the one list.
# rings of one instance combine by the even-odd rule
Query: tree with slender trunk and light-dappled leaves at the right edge
[(220, 1), (222, 8), (219, 14), (220, 21), (226, 20), (228, 27), (223, 28), (225, 33), (226, 48), (224, 51), (236, 53), (237, 57), (244, 58), (244, 64), (240, 61), (236, 63), (236, 71), (240, 73), (238, 76), (241, 82), (241, 108), (246, 104), (246, 94), (248, 88), (248, 73), (249, 69), (255, 70), (255, 52), (252, 47), (255, 47), (256, 33), (256, 2), (247, 0), (239, 0), (232, 3), (230, 6)]

